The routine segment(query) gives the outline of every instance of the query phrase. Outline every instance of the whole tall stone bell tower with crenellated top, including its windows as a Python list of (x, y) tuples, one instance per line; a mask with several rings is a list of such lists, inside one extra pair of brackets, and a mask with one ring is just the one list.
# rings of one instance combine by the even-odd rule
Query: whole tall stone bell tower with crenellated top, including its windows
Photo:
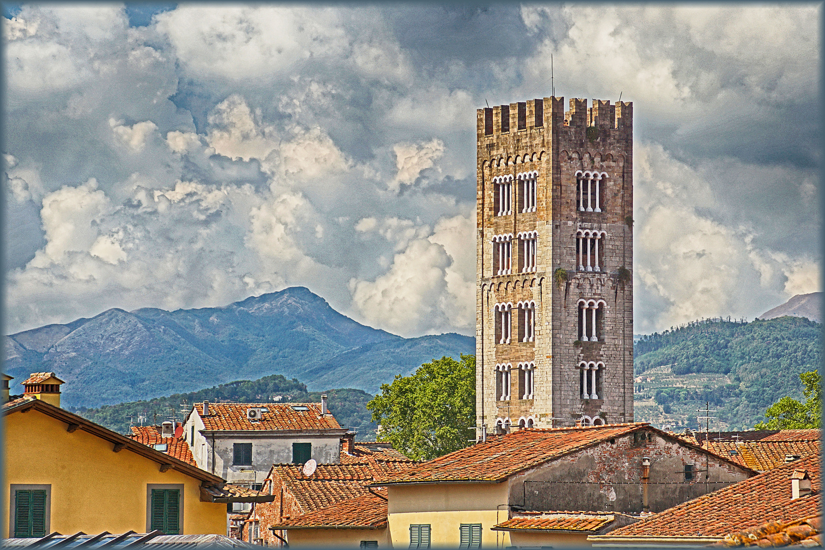
[(476, 414), (633, 421), (633, 104), (477, 111)]

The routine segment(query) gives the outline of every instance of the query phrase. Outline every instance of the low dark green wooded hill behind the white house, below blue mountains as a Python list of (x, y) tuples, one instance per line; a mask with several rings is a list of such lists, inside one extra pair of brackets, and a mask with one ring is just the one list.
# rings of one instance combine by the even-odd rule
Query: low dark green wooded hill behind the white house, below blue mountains
[(342, 427), (357, 427), (356, 439), (359, 441), (375, 439), (376, 426), (370, 421), (370, 412), (366, 410), (366, 403), (373, 395), (352, 388), (308, 392), (306, 384), (295, 378), (289, 380), (281, 374), (259, 380), (238, 380), (198, 392), (177, 393), (149, 401), (106, 405), (97, 409), (68, 408), (110, 430), (128, 434), (131, 424), (159, 424), (171, 419), (182, 421), (186, 416), (184, 411), (189, 411), (192, 403), (196, 402), (266, 403), (274, 402), (273, 397), (281, 396), (281, 402), (317, 403), (321, 402), (322, 393), (328, 395), (329, 411)]

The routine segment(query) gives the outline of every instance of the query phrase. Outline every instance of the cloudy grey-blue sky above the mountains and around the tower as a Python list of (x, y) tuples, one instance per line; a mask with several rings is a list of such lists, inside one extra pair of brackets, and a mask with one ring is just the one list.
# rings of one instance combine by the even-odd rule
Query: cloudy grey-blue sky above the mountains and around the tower
[(304, 285), (474, 334), (475, 110), (634, 102), (635, 331), (819, 289), (819, 8), (5, 5), (7, 333)]

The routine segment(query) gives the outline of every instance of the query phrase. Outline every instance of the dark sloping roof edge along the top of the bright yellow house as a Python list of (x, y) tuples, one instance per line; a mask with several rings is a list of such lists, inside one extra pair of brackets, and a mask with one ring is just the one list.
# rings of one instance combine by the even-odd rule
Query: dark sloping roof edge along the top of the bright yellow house
[(51, 405), (41, 399), (30, 399), (28, 401), (14, 403), (8, 407), (2, 407), (2, 415), (8, 416), (13, 412), (25, 413), (31, 411), (32, 409), (41, 412), (46, 416), (51, 416), (55, 420), (65, 422), (69, 427), (77, 426), (74, 430), (83, 430), (89, 434), (101, 438), (101, 440), (109, 441), (114, 445), (114, 448), (112, 449), (114, 452), (120, 452), (122, 449), (129, 449), (134, 454), (139, 454), (144, 458), (148, 458), (149, 460), (160, 464), (162, 468), (165, 467), (166, 469), (163, 469), (164, 472), (168, 469), (173, 469), (178, 472), (185, 473), (190, 477), (200, 479), (202, 482), (215, 484), (224, 483), (223, 477), (215, 476), (214, 474), (201, 470), (196, 466), (192, 466), (179, 458), (174, 458), (166, 453), (161, 453), (160, 451), (157, 451), (148, 445), (139, 443), (126, 435), (120, 435), (117, 432), (104, 428), (99, 424), (88, 421), (73, 412), (61, 409), (60, 407), (54, 407), (54, 405)]

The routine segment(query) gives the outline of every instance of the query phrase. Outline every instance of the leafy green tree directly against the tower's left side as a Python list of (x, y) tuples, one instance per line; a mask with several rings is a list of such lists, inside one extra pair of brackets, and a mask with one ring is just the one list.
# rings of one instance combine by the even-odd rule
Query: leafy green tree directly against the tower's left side
[(441, 357), (382, 384), (367, 403), (380, 440), (414, 460), (463, 449), (475, 425), (475, 355)]

